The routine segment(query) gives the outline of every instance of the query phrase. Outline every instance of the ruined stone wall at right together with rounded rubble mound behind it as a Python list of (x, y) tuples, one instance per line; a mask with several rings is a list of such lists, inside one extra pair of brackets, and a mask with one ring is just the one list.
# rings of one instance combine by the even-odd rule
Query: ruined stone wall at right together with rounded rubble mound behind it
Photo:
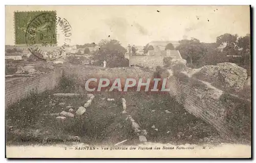
[(246, 78), (242, 67), (221, 63), (195, 70), (183, 68), (169, 77), (167, 86), (189, 113), (214, 126), (222, 137), (249, 141), (250, 101), (232, 94), (243, 88)]

